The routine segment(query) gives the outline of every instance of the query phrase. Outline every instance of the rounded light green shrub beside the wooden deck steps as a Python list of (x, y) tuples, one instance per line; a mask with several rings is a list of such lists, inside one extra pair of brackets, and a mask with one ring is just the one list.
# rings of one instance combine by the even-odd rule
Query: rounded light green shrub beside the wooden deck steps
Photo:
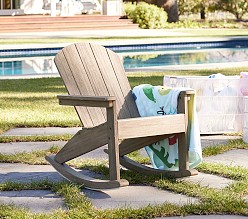
[(167, 23), (167, 14), (163, 8), (151, 5), (145, 2), (136, 4), (127, 3), (125, 12), (128, 18), (134, 23), (139, 24), (143, 29), (165, 28)]

